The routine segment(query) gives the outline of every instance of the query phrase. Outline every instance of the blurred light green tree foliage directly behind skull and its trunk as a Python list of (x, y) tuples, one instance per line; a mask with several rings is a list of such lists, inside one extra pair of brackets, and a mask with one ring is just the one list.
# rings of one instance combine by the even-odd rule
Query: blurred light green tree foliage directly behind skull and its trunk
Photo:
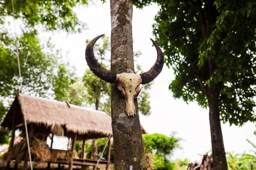
[[(101, 41), (100, 41), (101, 40)], [(94, 46), (95, 57), (98, 62), (104, 67), (108, 68), (110, 43), (108, 37), (103, 37), (99, 40), (100, 43), (96, 43)], [(86, 40), (88, 43), (89, 40)], [(141, 55), (140, 52), (135, 52), (134, 57), (137, 58)], [(143, 72), (139, 65), (136, 66), (136, 72)], [(86, 101), (89, 104), (95, 104), (95, 108), (98, 110), (108, 111), (111, 113), (111, 87), (109, 83), (98, 78), (90, 69), (85, 71), (83, 76), (83, 83), (86, 90)], [(149, 90), (152, 83), (144, 85), (138, 96), (139, 112), (143, 115), (150, 115), (150, 101), (149, 101)]]

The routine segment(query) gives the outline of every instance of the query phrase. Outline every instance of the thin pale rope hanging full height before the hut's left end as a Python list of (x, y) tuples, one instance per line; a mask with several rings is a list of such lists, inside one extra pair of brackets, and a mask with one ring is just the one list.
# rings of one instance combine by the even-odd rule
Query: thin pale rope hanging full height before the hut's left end
[[(14, 4), (13, 0), (11, 0), (11, 5), (13, 8), (13, 26), (14, 26), (14, 33), (15, 33), (15, 44), (16, 44), (16, 55), (17, 55), (17, 60), (18, 60), (18, 68), (19, 68), (19, 81), (20, 81), (20, 92), (22, 92), (22, 77), (21, 77), (21, 71), (20, 71), (20, 57), (19, 57), (19, 49), (18, 49), (18, 43), (17, 43), (17, 34), (16, 34), (16, 27), (15, 27), (15, 18), (14, 18)], [(24, 100), (23, 96), (21, 95), (21, 105), (23, 106), (23, 114), (24, 114), (24, 123), (25, 123), (25, 131), (26, 131), (26, 138), (27, 138), (27, 144), (28, 144), (28, 155), (30, 159), (30, 168), (33, 170), (32, 166), (32, 160), (31, 160), (31, 153), (30, 153), (30, 144), (28, 140), (28, 126), (27, 126), (27, 121), (26, 121), (26, 110), (25, 110), (25, 105), (24, 105)]]

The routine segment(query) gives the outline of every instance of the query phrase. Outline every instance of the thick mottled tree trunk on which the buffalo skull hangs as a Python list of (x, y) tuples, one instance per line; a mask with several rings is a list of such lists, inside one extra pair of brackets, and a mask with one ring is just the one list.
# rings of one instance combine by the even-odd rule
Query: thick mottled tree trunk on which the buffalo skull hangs
[[(111, 13), (111, 71), (133, 73), (132, 1), (110, 0)], [(137, 99), (136, 115), (128, 117), (126, 103), (117, 84), (111, 84), (111, 117), (114, 147), (114, 169), (147, 170)]]

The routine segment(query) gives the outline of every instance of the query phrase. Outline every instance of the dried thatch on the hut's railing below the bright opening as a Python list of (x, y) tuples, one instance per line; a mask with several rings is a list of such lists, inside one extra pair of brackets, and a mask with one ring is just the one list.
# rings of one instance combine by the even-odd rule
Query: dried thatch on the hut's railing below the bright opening
[(70, 162), (71, 159), (74, 158), (74, 154), (70, 150), (57, 150), (57, 149), (51, 149), (51, 158), (50, 160), (55, 162), (57, 160), (63, 160), (67, 161), (67, 163)]

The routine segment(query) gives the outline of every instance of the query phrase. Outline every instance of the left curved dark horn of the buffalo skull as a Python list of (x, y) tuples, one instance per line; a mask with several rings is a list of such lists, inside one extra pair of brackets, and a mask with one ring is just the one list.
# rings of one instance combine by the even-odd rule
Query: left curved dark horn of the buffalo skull
[(117, 74), (113, 73), (105, 68), (103, 68), (100, 63), (96, 60), (93, 54), (93, 46), (95, 42), (102, 37), (104, 34), (99, 35), (98, 37), (93, 38), (85, 49), (85, 59), (87, 61), (87, 65), (98, 76), (100, 79), (105, 80), (106, 82), (116, 83), (117, 82)]

